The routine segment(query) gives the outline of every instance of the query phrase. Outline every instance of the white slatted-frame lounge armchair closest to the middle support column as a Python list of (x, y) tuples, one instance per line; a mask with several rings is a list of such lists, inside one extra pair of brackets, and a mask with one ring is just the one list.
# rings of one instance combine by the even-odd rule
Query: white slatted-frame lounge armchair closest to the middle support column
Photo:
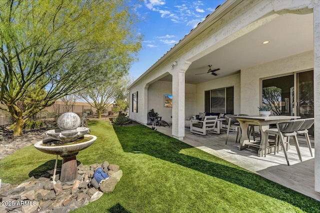
[(190, 132), (206, 135), (206, 131), (214, 130), (216, 128), (218, 116), (204, 116), (203, 120), (190, 120)]

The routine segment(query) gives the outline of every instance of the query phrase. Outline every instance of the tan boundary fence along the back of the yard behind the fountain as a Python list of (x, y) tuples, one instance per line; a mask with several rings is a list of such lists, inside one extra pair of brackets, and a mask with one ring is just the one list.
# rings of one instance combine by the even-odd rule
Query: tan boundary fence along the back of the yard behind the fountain
[[(0, 104), (0, 106), (7, 108), (3, 104)], [(105, 113), (107, 113), (108, 111), (111, 111), (111, 109), (112, 107), (109, 106), (106, 109)], [(96, 113), (96, 108), (88, 105), (67, 106), (64, 104), (53, 104), (49, 107), (45, 107), (36, 115), (32, 116), (31, 120), (57, 118), (65, 112), (74, 112), (79, 116), (82, 116), (83, 113), (87, 113), (88, 115), (93, 115)], [(14, 119), (11, 117), (10, 113), (5, 110), (0, 110), (0, 126), (11, 125), (13, 123), (14, 123)]]

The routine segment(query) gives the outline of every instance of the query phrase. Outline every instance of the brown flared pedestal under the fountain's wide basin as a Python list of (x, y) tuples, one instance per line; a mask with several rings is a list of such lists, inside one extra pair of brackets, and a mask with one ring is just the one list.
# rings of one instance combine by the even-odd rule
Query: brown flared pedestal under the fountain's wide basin
[(78, 153), (74, 153), (72, 155), (60, 155), (62, 158), (62, 166), (60, 173), (60, 181), (69, 182), (73, 181), (77, 177), (77, 165), (76, 165), (76, 155)]

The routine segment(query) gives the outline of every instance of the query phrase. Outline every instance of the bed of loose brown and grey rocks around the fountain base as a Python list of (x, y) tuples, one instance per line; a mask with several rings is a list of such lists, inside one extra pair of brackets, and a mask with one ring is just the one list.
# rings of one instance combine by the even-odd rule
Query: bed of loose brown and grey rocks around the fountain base
[[(94, 170), (102, 166), (106, 170), (110, 167), (112, 170), (108, 170), (107, 173), (112, 176), (104, 181), (103, 185), (100, 185), (100, 189), (97, 190), (89, 182), (93, 177)], [(117, 165), (108, 165), (107, 161), (102, 164), (90, 165), (90, 167), (79, 165), (77, 179), (72, 182), (61, 183), (56, 179), (56, 184), (53, 185), (48, 178), (35, 180), (34, 177), (31, 177), (19, 186), (2, 183), (0, 196), (2, 202), (14, 201), (16, 204), (18, 201), (31, 202), (28, 203), (30, 205), (22, 204), (8, 207), (14, 212), (69, 212), (96, 201), (103, 195), (103, 192), (112, 192), (121, 177), (122, 170), (119, 170)], [(7, 210), (5, 207), (0, 207), (0, 212), (7, 213)]]

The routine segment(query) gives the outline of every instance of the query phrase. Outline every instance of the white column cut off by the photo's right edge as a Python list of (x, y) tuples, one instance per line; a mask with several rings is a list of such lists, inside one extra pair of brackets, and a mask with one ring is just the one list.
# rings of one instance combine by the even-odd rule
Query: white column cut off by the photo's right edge
[(314, 190), (320, 193), (320, 5), (313, 7)]

